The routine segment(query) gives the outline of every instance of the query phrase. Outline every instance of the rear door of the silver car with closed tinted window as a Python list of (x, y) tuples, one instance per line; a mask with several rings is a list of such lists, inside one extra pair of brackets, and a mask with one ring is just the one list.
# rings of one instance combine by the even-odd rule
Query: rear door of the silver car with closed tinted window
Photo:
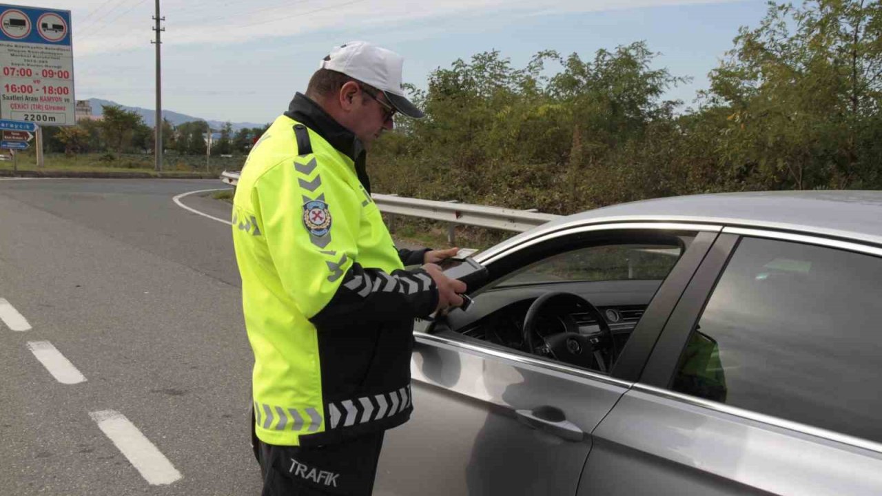
[(882, 493), (879, 294), (878, 247), (724, 229), (579, 495)]

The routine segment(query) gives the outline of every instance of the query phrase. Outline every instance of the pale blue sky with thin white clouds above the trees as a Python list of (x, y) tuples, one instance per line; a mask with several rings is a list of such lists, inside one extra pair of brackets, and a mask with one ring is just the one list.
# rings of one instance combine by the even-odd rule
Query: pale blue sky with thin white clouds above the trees
[[(18, 5), (71, 11), (78, 100), (155, 108), (154, 0)], [(519, 68), (542, 49), (588, 59), (642, 40), (662, 54), (656, 68), (692, 78), (665, 95), (688, 106), (738, 28), (765, 12), (765, 0), (161, 0), (162, 108), (272, 122), (333, 46), (355, 40), (400, 53), (420, 87), (491, 49)]]

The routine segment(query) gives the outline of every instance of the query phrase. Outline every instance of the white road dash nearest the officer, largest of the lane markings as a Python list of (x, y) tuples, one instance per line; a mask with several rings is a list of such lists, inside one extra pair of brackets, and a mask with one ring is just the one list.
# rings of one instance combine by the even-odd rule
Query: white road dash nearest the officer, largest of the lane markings
[(183, 477), (128, 418), (116, 410), (93, 411), (89, 417), (113, 441), (150, 485), (168, 485)]

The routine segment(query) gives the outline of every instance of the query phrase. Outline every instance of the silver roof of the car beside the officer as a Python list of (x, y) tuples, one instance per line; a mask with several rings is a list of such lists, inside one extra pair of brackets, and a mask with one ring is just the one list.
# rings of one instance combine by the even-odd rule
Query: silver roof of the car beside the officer
[(567, 215), (504, 244), (518, 244), (539, 232), (609, 222), (699, 222), (882, 245), (882, 192), (736, 192), (647, 199)]

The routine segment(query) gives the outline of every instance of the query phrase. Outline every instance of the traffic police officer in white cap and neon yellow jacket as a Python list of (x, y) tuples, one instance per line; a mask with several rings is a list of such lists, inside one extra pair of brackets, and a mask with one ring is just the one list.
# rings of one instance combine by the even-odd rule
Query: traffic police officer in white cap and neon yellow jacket
[[(403, 94), (402, 65), (370, 43), (334, 48), (236, 188), (265, 495), (370, 494), (385, 430), (413, 410), (413, 319), (462, 304), (465, 284), (432, 263), (456, 249), (397, 250), (370, 197), (370, 144), (396, 113), (423, 116)], [(424, 265), (404, 270), (414, 264)]]

